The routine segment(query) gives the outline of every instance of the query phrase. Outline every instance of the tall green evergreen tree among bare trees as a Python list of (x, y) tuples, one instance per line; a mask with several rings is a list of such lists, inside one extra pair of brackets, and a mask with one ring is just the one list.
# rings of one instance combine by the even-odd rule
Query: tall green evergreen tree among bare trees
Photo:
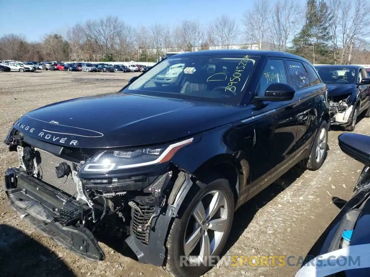
[(330, 59), (330, 24), (332, 15), (323, 0), (307, 0), (306, 23), (293, 39), (294, 52), (313, 64)]

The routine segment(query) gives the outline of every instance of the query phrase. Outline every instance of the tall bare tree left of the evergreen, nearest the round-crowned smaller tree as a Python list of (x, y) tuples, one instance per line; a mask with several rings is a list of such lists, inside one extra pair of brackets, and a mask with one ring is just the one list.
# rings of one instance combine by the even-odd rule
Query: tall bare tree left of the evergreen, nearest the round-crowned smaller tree
[(243, 24), (246, 41), (250, 44), (257, 43), (258, 49), (262, 48), (262, 43), (268, 37), (269, 6), (269, 0), (255, 0), (252, 9), (247, 10), (244, 14)]

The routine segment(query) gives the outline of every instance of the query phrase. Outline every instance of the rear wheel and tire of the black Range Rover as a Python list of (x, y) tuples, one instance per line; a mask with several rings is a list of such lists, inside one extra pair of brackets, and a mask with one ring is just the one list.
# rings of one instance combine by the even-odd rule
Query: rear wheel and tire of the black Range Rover
[(322, 166), (327, 155), (328, 129), (327, 122), (323, 120), (314, 138), (310, 156), (299, 161), (299, 167), (314, 171)]

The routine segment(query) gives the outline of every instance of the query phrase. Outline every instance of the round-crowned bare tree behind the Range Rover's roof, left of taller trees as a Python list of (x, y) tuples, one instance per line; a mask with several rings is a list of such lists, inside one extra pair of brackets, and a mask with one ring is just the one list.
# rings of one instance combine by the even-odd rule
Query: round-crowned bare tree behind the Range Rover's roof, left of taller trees
[(214, 23), (214, 37), (222, 49), (229, 49), (238, 38), (238, 26), (226, 15), (217, 17)]

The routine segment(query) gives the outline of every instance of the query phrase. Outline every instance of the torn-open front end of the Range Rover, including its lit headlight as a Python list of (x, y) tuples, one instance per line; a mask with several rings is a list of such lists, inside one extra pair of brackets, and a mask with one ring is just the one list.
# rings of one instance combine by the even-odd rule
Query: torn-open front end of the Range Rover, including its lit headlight
[[(98, 239), (128, 235), (140, 262), (162, 266), (168, 226), (192, 184), (169, 160), (191, 142), (93, 150), (57, 146), (12, 128), (5, 143), (17, 151), (19, 166), (6, 171), (4, 191), (21, 218), (79, 256), (103, 260)], [(139, 157), (140, 166), (133, 166), (129, 159)]]

